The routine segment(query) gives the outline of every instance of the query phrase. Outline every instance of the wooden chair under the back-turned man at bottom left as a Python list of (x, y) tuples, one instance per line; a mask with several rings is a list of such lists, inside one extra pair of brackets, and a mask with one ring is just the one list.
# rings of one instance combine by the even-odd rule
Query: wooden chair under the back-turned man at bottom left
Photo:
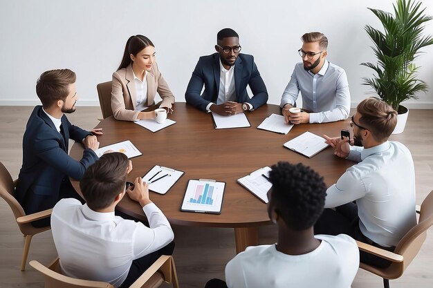
[[(45, 267), (36, 260), (30, 261), (29, 264), (37, 271), (44, 274), (45, 288), (114, 288), (113, 285), (107, 282), (81, 280), (62, 275), (58, 257), (48, 267)], [(163, 282), (172, 283), (174, 288), (179, 287), (176, 267), (174, 266), (172, 256), (160, 256), (145, 273), (142, 273), (142, 276), (140, 276), (136, 282), (133, 282), (130, 288), (154, 288), (159, 287)]]

